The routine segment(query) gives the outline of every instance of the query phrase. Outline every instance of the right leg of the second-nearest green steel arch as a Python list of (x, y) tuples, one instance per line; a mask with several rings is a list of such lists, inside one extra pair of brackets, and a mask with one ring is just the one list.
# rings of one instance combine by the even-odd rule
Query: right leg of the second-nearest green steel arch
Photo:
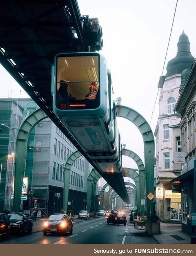
[[(145, 167), (143, 164), (142, 159), (134, 152), (129, 149), (122, 149), (122, 155), (125, 155), (127, 157), (130, 157), (133, 159), (137, 166), (138, 166), (138, 171), (139, 171), (139, 176), (140, 176), (140, 200), (145, 199)], [(141, 216), (144, 215), (144, 205), (141, 205), (141, 201), (139, 202), (140, 204), (140, 212)], [(138, 209), (139, 211), (139, 209)]]

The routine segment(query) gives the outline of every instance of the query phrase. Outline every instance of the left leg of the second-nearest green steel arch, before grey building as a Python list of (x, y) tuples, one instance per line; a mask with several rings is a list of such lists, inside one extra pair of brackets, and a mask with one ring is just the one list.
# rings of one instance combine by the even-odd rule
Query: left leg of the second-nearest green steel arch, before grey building
[(82, 154), (80, 151), (73, 152), (69, 158), (67, 159), (67, 162), (64, 167), (64, 189), (63, 189), (63, 209), (64, 212), (67, 213), (67, 207), (68, 207), (68, 197), (69, 197), (69, 184), (70, 184), (70, 170), (73, 162), (76, 160), (76, 158), (81, 157)]

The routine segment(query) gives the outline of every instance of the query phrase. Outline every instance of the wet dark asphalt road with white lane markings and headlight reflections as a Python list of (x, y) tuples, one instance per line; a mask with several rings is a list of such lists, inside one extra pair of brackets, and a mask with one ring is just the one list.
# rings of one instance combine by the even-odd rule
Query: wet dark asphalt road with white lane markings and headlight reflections
[(48, 234), (43, 236), (39, 231), (24, 236), (10, 236), (0, 238), (0, 243), (11, 244), (121, 244), (121, 243), (156, 243), (153, 237), (147, 236), (145, 231), (134, 229), (133, 224), (107, 225), (107, 218), (90, 218), (73, 224), (73, 234), (60, 236)]

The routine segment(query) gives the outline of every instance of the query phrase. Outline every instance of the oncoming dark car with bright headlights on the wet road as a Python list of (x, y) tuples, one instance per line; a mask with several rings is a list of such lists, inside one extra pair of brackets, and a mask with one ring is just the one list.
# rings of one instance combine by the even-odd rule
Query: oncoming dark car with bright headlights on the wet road
[(44, 236), (47, 233), (59, 233), (64, 236), (72, 234), (73, 232), (73, 223), (69, 214), (65, 213), (54, 213), (44, 222)]

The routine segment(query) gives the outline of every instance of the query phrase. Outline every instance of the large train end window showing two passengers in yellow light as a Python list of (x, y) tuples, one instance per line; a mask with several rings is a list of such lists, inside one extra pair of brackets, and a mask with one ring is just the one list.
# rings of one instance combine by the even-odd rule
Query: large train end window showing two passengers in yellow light
[(56, 107), (61, 110), (98, 108), (99, 57), (59, 56), (56, 65)]

